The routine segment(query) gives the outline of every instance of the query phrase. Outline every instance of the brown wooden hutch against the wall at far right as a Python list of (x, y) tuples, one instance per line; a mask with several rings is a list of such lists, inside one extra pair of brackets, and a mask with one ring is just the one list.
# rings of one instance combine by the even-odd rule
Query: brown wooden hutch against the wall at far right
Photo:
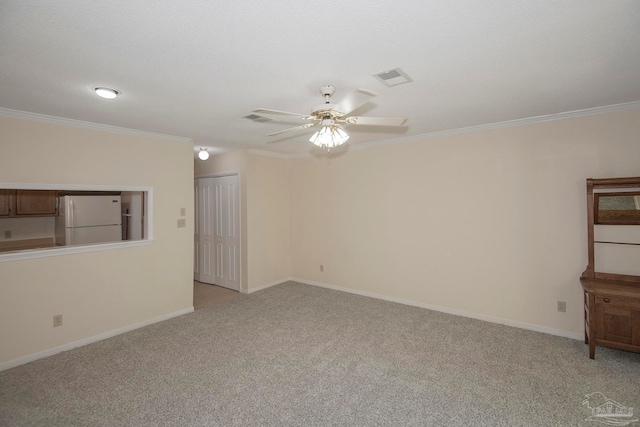
[(585, 343), (640, 352), (640, 177), (587, 179)]

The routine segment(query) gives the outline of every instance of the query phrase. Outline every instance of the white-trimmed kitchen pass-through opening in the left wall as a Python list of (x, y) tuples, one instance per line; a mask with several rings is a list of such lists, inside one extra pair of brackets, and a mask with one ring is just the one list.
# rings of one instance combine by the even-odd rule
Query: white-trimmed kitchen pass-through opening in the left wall
[(0, 257), (150, 240), (151, 196), (140, 187), (0, 187)]

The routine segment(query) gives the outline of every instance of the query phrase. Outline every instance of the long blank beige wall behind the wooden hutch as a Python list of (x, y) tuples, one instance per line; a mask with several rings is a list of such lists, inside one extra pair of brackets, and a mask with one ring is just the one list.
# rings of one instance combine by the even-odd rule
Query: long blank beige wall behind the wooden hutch
[(636, 109), (292, 159), (292, 276), (579, 336), (585, 179), (638, 176), (638, 135)]

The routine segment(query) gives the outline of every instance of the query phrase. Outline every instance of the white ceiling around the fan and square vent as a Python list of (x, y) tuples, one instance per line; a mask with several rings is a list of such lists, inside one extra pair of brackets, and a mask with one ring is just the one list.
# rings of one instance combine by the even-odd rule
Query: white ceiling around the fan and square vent
[[(373, 77), (400, 67), (413, 81)], [(0, 107), (192, 138), (196, 149), (305, 153), (267, 137), (365, 88), (350, 144), (640, 101), (637, 0), (2, 0)], [(91, 88), (122, 95), (103, 100)]]

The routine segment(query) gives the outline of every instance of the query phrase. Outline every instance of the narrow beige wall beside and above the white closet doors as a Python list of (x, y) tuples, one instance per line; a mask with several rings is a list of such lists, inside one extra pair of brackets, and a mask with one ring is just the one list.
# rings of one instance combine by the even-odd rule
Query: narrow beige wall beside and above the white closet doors
[(238, 174), (241, 291), (286, 280), (291, 271), (289, 161), (242, 150), (195, 160), (194, 169), (196, 177)]

